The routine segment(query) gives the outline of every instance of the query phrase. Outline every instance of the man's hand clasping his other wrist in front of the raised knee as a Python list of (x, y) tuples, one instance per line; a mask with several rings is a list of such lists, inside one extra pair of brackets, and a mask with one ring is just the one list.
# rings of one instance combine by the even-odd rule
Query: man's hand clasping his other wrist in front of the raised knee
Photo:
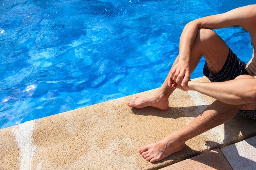
[(179, 61), (172, 69), (169, 80), (168, 87), (172, 87), (173, 84), (181, 84), (182, 87), (185, 86), (190, 80), (189, 64), (184, 61)]

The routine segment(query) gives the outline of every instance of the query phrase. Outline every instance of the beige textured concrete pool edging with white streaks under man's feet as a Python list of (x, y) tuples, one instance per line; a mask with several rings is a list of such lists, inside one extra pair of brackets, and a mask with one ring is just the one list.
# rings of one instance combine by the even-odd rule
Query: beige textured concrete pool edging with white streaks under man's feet
[[(208, 82), (206, 77), (195, 80)], [(0, 170), (159, 169), (256, 135), (255, 121), (236, 115), (187, 141), (181, 152), (150, 163), (141, 157), (139, 147), (155, 143), (186, 126), (214, 101), (194, 91), (176, 90), (169, 98), (167, 110), (126, 106), (133, 97), (150, 96), (156, 91), (1, 129)], [(209, 154), (219, 152), (217, 149)]]

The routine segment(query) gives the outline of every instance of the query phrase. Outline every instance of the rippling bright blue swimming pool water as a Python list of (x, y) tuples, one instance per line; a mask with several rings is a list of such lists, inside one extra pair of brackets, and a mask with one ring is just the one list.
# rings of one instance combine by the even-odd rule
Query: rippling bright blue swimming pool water
[[(185, 24), (254, 0), (1, 0), (0, 128), (161, 86)], [(249, 34), (216, 30), (245, 62)], [(191, 75), (202, 76), (204, 60)]]

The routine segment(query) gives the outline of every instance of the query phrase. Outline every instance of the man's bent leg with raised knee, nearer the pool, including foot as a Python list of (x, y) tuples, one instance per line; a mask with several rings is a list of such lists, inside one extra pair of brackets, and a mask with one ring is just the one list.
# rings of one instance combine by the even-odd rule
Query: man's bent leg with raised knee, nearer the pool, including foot
[[(227, 44), (214, 31), (210, 29), (199, 29), (192, 47), (191, 62), (189, 64), (190, 72), (192, 73), (194, 71), (201, 56), (204, 56), (209, 71), (214, 75), (218, 73), (225, 64), (228, 53), (229, 48)], [(178, 61), (179, 55), (173, 63), (173, 66), (175, 66)], [(175, 90), (175, 88), (168, 87), (170, 72), (162, 86), (159, 88), (159, 91), (157, 91), (153, 97), (135, 97), (130, 100), (127, 105), (135, 108), (153, 106), (161, 110), (166, 110), (169, 104), (168, 98)]]

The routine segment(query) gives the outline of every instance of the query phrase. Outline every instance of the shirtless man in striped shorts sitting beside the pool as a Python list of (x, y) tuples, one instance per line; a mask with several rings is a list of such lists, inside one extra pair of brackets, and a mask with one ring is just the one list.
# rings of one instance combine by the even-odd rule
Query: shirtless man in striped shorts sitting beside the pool
[[(155, 144), (139, 148), (139, 153), (150, 162), (159, 161), (182, 150), (185, 141), (225, 123), (240, 110), (244, 117), (256, 119), (256, 59), (245, 66), (212, 29), (239, 25), (251, 35), (256, 47), (256, 5), (240, 7), (226, 13), (211, 15), (189, 22), (180, 37), (180, 53), (159, 91), (153, 97), (135, 97), (130, 107), (153, 106), (168, 108), (168, 97), (180, 88), (194, 90), (217, 99), (189, 125)], [(203, 73), (211, 83), (190, 81), (190, 74), (204, 56)]]

